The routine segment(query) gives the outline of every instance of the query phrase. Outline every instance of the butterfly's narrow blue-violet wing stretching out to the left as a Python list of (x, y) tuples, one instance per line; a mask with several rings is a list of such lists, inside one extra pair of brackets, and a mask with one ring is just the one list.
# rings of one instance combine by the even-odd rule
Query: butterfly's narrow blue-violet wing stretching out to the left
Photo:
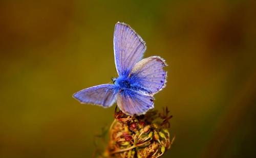
[(76, 92), (73, 97), (81, 103), (91, 103), (105, 108), (116, 101), (115, 85), (103, 84)]

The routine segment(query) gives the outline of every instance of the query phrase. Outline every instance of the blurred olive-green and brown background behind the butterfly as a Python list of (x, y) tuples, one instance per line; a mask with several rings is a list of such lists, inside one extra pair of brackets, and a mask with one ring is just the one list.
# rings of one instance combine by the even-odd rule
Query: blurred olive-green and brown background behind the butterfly
[(72, 98), (116, 77), (130, 24), (168, 67), (175, 143), (164, 157), (255, 157), (255, 1), (1, 1), (0, 157), (90, 157), (113, 120)]

